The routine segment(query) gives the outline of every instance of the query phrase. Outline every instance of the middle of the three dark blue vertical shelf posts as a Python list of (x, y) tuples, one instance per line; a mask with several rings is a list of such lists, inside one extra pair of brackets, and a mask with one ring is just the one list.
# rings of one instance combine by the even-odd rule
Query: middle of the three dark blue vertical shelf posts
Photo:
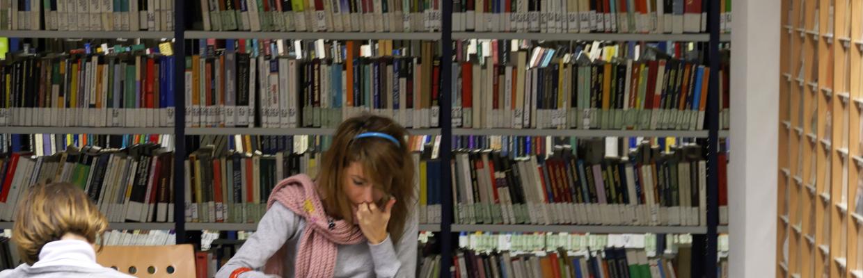
[(450, 233), (450, 225), (452, 224), (453, 207), (452, 203), (452, 179), (450, 175), (450, 160), (452, 160), (452, 1), (441, 1), (442, 10), (442, 28), (440, 30), (441, 49), (441, 95), (440, 95), (440, 161), (442, 184), (441, 195), (444, 197), (441, 202), (442, 212), (444, 215), (440, 223), (440, 276), (450, 277), (450, 263), (452, 263), (452, 234)]

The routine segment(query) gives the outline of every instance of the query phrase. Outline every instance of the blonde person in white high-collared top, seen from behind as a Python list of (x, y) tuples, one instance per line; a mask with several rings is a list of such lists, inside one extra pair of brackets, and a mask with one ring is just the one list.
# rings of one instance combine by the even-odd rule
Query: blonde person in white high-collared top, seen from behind
[(12, 241), (24, 263), (11, 277), (132, 277), (96, 263), (94, 243), (108, 221), (71, 183), (37, 185), (18, 203)]

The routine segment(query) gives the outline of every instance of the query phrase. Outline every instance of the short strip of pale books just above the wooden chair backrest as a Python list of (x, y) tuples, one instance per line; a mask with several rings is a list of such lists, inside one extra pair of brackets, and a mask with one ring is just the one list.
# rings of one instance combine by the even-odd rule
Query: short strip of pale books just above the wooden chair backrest
[(110, 230), (96, 240), (97, 244), (108, 246), (173, 245), (177, 234), (173, 230)]

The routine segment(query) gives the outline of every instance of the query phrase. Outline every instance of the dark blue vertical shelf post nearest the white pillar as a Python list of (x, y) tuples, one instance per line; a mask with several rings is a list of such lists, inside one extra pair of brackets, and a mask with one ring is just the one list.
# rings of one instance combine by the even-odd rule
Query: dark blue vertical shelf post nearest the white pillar
[(708, 131), (708, 179), (707, 179), (707, 254), (704, 256), (705, 276), (715, 278), (716, 262), (716, 225), (719, 223), (719, 4), (710, 1), (708, 28), (710, 43), (708, 57), (710, 79), (708, 81), (707, 127)]

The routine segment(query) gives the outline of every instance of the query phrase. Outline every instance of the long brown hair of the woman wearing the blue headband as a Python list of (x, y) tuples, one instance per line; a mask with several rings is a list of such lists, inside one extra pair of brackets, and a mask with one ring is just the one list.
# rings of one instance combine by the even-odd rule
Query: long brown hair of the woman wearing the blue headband
[[(355, 139), (356, 135), (367, 132), (386, 133), (400, 144), (381, 138)], [(343, 194), (343, 181), (348, 166), (360, 163), (363, 175), (369, 178), (375, 189), (396, 200), (387, 232), (394, 242), (399, 242), (413, 204), (413, 159), (405, 141), (406, 135), (404, 127), (386, 117), (361, 114), (344, 120), (336, 130), (330, 149), (324, 152), (316, 178), (324, 210), (333, 217), (353, 222), (350, 201)]]

